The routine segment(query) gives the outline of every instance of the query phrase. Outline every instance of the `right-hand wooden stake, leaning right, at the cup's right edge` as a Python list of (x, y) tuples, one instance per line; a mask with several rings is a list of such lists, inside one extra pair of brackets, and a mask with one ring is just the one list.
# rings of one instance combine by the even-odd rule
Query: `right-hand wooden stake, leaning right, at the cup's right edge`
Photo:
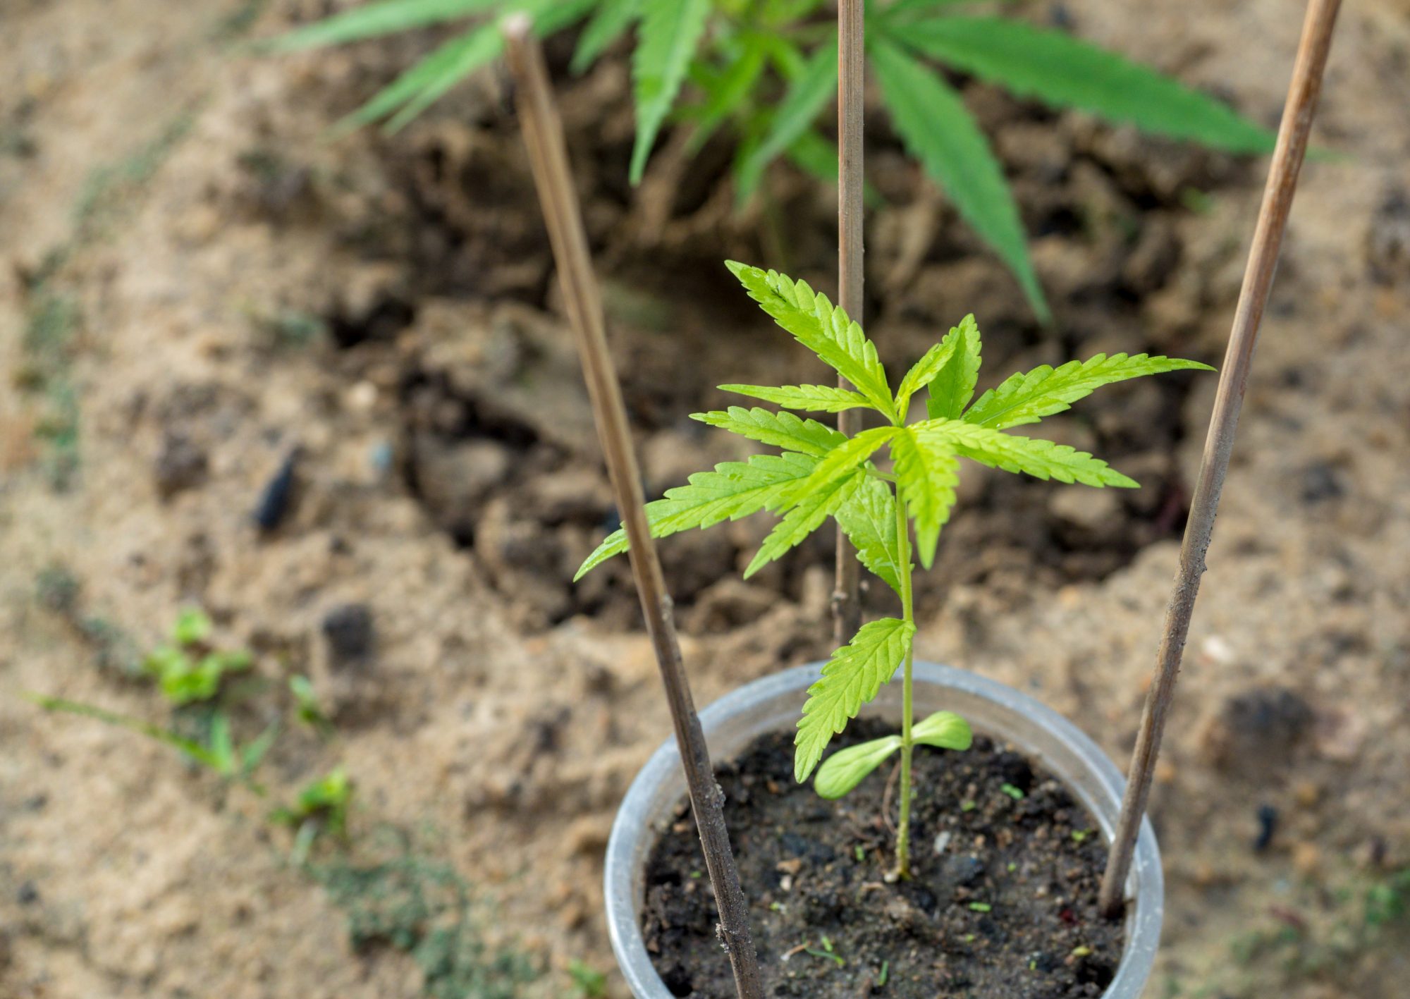
[(1175, 577), (1170, 607), (1166, 610), (1165, 636), (1160, 639), (1155, 677), (1146, 694), (1141, 731), (1131, 756), (1121, 818), (1111, 842), (1111, 854), (1107, 856), (1107, 872), (1101, 879), (1098, 904), (1108, 917), (1120, 916), (1125, 904), (1127, 872), (1131, 868), (1141, 817), (1151, 794), (1151, 776), (1160, 752), (1166, 715), (1175, 697), (1180, 656), (1190, 631), (1194, 598), (1200, 591), (1200, 577), (1204, 574), (1204, 555), (1214, 533), (1214, 515), (1218, 511), (1224, 476), (1230, 467), (1230, 453), (1234, 450), (1234, 433), (1238, 429), (1244, 391), (1248, 388), (1253, 347), (1258, 344), (1258, 327), (1268, 305), (1273, 272), (1277, 270), (1277, 251), (1287, 226), (1287, 213), (1293, 206), (1297, 172), (1307, 151), (1307, 133), (1311, 130), (1313, 113), (1317, 109), (1317, 95), (1321, 90), (1327, 51), (1331, 48), (1340, 6), (1341, 0), (1311, 0), (1303, 23), (1303, 38), (1293, 65), (1293, 82), (1287, 90), (1287, 104), (1277, 130), (1273, 164), (1268, 172), (1268, 186), (1263, 189), (1263, 205), (1258, 213), (1258, 227), (1253, 230), (1253, 247), (1244, 271), (1244, 288), (1234, 313), (1228, 351), (1224, 354), (1218, 394), (1214, 396), (1210, 433), (1204, 440), (1200, 477), (1194, 485), (1190, 519), (1180, 546), (1180, 569)]

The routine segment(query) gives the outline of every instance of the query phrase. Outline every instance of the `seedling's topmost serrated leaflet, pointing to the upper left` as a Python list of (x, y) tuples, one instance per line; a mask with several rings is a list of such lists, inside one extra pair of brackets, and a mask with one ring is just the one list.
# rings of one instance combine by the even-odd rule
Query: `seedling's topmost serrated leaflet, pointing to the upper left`
[(856, 385), (873, 406), (893, 412), (891, 388), (877, 349), (862, 327), (835, 308), (826, 295), (818, 295), (807, 281), (792, 281), (777, 271), (725, 261), (749, 296), (773, 316), (798, 343), (815, 353), (833, 371)]

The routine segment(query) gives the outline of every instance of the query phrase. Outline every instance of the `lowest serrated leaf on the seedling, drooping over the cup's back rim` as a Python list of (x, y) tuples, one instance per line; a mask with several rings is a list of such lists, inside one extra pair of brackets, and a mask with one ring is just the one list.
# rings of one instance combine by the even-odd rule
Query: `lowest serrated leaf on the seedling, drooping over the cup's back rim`
[(915, 625), (900, 618), (881, 618), (862, 625), (843, 648), (832, 653), (822, 677), (808, 687), (798, 734), (794, 737), (794, 777), (808, 779), (822, 759), (822, 751), (836, 732), (847, 727), (862, 706), (877, 696), (905, 659)]

